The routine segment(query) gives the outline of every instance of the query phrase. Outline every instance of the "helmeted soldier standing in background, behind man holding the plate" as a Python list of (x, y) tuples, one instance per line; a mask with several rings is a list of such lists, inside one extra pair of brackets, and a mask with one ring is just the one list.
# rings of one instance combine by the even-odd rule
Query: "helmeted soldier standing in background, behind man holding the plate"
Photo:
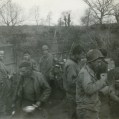
[(40, 72), (45, 76), (46, 80), (50, 84), (50, 71), (53, 66), (53, 55), (49, 53), (49, 48), (47, 45), (42, 46), (43, 56), (39, 61)]

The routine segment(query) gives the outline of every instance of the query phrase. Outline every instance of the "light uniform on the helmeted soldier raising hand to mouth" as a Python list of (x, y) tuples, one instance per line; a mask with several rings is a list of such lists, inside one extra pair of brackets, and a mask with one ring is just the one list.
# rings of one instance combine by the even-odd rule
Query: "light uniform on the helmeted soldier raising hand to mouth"
[(78, 119), (98, 119), (101, 105), (98, 91), (105, 86), (105, 81), (97, 80), (94, 71), (88, 65), (81, 69), (76, 83)]

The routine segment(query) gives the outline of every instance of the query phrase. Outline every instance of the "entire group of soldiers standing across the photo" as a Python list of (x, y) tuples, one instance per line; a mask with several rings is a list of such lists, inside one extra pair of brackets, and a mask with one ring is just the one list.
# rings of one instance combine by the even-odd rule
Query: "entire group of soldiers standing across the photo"
[[(11, 94), (13, 75), (9, 73), (3, 62), (4, 51), (0, 51), (0, 119), (6, 119), (10, 114), (12, 114), (10, 118), (15, 119), (49, 118), (43, 107), (50, 103), (51, 95), (54, 95), (52, 93), (56, 93), (54, 90), (58, 85), (55, 86), (53, 81), (57, 79), (57, 72), (53, 72), (54, 58), (49, 53), (47, 45), (42, 46), (42, 52), (43, 56), (38, 63), (31, 58), (29, 52), (24, 53), (15, 79), (17, 83)], [(106, 101), (114, 102), (112, 106), (106, 103), (106, 113), (107, 109), (110, 111), (104, 119), (114, 119), (114, 109), (115, 107), (118, 109), (119, 103), (119, 68), (109, 69), (106, 56), (100, 49), (89, 50), (86, 53), (86, 61), (82, 65), (83, 57), (84, 51), (76, 45), (62, 67), (63, 72), (58, 83), (65, 94), (62, 103), (62, 110), (66, 115), (64, 119), (99, 119), (101, 103), (103, 103), (99, 93), (103, 98), (108, 97), (109, 100)], [(56, 69), (59, 68), (58, 65), (55, 66)], [(11, 95), (12, 113), (9, 114), (8, 103)], [(34, 110), (27, 112), (25, 109), (28, 106)], [(116, 111), (118, 114), (118, 110)], [(116, 118), (118, 119), (119, 116)]]

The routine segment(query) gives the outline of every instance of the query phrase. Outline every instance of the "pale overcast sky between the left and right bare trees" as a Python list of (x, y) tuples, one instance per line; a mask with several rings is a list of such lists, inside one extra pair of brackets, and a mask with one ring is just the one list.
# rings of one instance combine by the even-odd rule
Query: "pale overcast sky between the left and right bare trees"
[[(48, 12), (52, 12), (52, 24), (56, 24), (62, 11), (71, 10), (73, 24), (80, 24), (80, 18), (83, 16), (87, 5), (83, 0), (12, 0), (18, 3), (28, 17), (33, 6), (40, 7), (40, 17), (46, 19)], [(31, 15), (32, 17), (32, 15)], [(33, 23), (28, 17), (27, 23)]]

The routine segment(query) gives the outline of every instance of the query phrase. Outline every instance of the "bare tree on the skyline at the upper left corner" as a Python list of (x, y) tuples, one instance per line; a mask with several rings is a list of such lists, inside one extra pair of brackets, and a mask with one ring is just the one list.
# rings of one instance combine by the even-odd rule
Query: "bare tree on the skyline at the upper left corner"
[(0, 9), (0, 23), (6, 26), (16, 26), (23, 23), (22, 9), (11, 1)]

